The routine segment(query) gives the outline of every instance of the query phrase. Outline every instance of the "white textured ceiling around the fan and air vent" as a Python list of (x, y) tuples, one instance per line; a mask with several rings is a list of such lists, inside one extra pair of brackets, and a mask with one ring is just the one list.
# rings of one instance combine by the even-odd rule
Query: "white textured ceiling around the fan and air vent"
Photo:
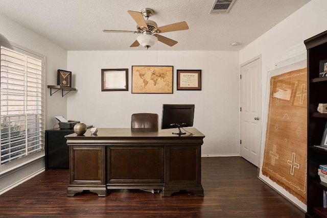
[(151, 8), (159, 27), (186, 21), (190, 29), (162, 33), (178, 43), (158, 42), (149, 50), (239, 51), (309, 1), (236, 0), (227, 14), (209, 14), (215, 0), (0, 0), (0, 14), (68, 51), (137, 51), (145, 48), (129, 45), (139, 35), (102, 30), (134, 31), (127, 11)]

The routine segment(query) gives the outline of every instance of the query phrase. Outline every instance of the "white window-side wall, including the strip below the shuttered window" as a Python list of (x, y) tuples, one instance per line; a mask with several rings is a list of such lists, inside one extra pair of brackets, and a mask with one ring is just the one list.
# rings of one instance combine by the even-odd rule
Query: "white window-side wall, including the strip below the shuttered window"
[[(67, 66), (67, 52), (64, 49), (2, 15), (0, 15), (0, 33), (10, 42), (44, 55), (46, 84), (55, 85), (57, 83), (57, 69)], [(66, 98), (61, 98), (61, 95), (60, 98), (59, 95), (50, 97), (50, 90), (46, 89), (45, 129), (52, 128), (57, 123), (53, 118), (55, 114), (66, 114), (66, 107)], [(15, 169), (15, 171), (1, 174), (0, 194), (42, 170), (44, 170), (44, 157)]]

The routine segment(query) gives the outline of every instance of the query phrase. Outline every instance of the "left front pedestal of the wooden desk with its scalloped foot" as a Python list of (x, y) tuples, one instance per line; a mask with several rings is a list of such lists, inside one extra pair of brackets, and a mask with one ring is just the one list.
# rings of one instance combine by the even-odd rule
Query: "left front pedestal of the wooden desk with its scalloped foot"
[(69, 146), (70, 184), (67, 196), (83, 190), (107, 196), (104, 146)]

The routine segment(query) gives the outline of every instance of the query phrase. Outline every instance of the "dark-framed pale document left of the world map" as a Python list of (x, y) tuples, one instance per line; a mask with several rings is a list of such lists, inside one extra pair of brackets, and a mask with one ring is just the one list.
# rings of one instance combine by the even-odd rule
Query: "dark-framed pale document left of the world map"
[(128, 69), (101, 69), (101, 91), (128, 91)]

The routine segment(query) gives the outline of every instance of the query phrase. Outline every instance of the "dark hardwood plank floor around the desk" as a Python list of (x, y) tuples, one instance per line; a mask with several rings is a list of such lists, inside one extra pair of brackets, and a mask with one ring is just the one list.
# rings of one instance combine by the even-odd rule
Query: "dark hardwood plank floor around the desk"
[(204, 197), (142, 190), (66, 197), (68, 169), (50, 169), (0, 196), (0, 216), (14, 217), (305, 217), (257, 178), (241, 157), (202, 158)]

